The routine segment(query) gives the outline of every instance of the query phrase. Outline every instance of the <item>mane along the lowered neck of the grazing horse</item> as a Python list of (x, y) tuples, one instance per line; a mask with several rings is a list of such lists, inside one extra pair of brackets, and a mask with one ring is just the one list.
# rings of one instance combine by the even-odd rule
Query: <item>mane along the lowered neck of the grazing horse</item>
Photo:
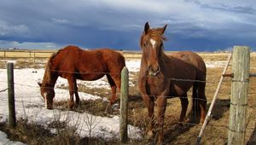
[(61, 50), (62, 49), (59, 49), (56, 53), (52, 54), (47, 61), (46, 65), (45, 65), (45, 72), (44, 72), (44, 78), (43, 78), (44, 84), (49, 83), (51, 75), (52, 75), (51, 74), (52, 67), (53, 67), (52, 61), (55, 59), (56, 55), (60, 54)]

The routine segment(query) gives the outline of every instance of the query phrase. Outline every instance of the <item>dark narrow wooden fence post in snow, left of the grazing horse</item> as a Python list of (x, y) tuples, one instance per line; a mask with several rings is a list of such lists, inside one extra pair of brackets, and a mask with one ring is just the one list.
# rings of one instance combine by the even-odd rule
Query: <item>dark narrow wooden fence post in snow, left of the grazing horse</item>
[(16, 126), (15, 115), (15, 84), (14, 84), (14, 63), (7, 64), (8, 96), (9, 96), (9, 125)]

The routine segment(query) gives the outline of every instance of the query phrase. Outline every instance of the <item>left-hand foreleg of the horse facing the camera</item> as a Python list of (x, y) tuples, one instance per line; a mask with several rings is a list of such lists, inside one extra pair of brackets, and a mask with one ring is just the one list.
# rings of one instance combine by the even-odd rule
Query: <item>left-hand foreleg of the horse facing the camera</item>
[(143, 96), (143, 101), (148, 108), (149, 126), (147, 131), (147, 138), (152, 138), (154, 136), (154, 99), (150, 96)]

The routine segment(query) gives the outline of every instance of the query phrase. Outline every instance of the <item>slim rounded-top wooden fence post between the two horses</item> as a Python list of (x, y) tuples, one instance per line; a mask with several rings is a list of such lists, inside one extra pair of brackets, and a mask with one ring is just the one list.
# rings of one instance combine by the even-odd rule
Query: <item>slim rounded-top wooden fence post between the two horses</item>
[(128, 69), (124, 67), (121, 74), (121, 96), (120, 96), (120, 122), (119, 138), (121, 142), (127, 142), (127, 115), (128, 115), (129, 76)]

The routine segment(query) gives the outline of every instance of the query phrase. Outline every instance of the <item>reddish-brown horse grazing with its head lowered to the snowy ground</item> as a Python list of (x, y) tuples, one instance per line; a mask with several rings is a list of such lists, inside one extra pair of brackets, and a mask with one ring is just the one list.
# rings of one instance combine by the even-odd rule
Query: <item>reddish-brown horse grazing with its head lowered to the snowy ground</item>
[(60, 76), (67, 78), (70, 100), (68, 107), (73, 108), (73, 94), (76, 96), (76, 105), (79, 105), (79, 93), (76, 79), (96, 80), (104, 75), (111, 86), (112, 98), (110, 104), (116, 100), (116, 89), (120, 90), (121, 71), (125, 67), (125, 58), (112, 49), (84, 50), (76, 46), (67, 46), (49, 57), (45, 67), (44, 79), (39, 84), (45, 106), (53, 107), (55, 97), (55, 82)]

